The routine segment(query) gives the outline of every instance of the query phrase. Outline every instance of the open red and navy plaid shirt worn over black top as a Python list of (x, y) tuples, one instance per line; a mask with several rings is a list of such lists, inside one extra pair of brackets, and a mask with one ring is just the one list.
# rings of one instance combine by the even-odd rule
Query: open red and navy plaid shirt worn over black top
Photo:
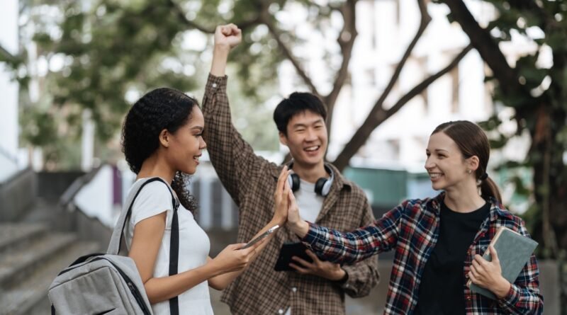
[[(368, 227), (342, 233), (310, 223), (303, 241), (319, 256), (335, 263), (354, 263), (383, 251), (395, 251), (388, 299), (384, 314), (412, 314), (419, 299), (425, 263), (439, 237), (439, 213), (444, 193), (432, 199), (407, 200)], [(466, 277), (474, 255), (482, 255), (496, 234), (505, 226), (529, 236), (524, 222), (490, 200), (490, 215), (468, 248), (461, 277)], [(543, 297), (539, 292), (539, 270), (532, 254), (528, 263), (503, 299), (494, 301), (475, 294), (464, 285), (466, 314), (541, 314)], [(464, 281), (466, 283), (466, 281)]]

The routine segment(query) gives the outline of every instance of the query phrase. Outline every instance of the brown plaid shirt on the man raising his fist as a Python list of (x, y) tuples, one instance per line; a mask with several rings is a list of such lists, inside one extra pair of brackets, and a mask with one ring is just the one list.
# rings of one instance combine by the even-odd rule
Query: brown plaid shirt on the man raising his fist
[[(255, 155), (232, 125), (226, 82), (226, 76), (209, 74), (203, 97), (204, 137), (215, 171), (239, 207), (238, 241), (246, 242), (274, 214), (274, 190), (282, 166)], [(350, 231), (374, 222), (361, 188), (332, 167), (335, 180), (317, 224)], [(283, 227), (245, 273), (232, 282), (222, 301), (230, 305), (233, 314), (283, 314), (288, 307), (293, 315), (344, 314), (344, 293), (364, 297), (378, 283), (376, 259), (344, 265), (349, 277), (342, 285), (313, 275), (274, 271), (281, 245), (298, 240)]]

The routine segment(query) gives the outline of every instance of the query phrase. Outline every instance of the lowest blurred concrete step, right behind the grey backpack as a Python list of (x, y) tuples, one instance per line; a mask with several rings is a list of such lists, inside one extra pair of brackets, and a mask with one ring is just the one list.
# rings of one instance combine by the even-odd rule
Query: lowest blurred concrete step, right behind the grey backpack
[(75, 241), (65, 246), (57, 255), (50, 256), (45, 263), (26, 275), (19, 282), (12, 282), (1, 289), (0, 315), (50, 314), (47, 288), (58, 273), (75, 259), (87, 253), (99, 252), (94, 242)]

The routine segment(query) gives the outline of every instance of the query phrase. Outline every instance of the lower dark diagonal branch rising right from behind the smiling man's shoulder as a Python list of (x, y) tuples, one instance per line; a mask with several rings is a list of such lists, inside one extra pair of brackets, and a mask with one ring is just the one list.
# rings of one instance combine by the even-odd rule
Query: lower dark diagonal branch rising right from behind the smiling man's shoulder
[(364, 143), (369, 138), (370, 134), (376, 129), (376, 127), (381, 125), (382, 122), (390, 118), (395, 113), (398, 113), (398, 110), (400, 110), (403, 105), (408, 103), (408, 101), (410, 101), (415, 96), (422, 93), (422, 91), (430, 86), (430, 84), (432, 84), (435, 80), (439, 79), (441, 76), (447, 74), (447, 72), (456, 67), (456, 65), (461, 62), (461, 59), (463, 59), (463, 57), (465, 57), (465, 55), (470, 52), (472, 48), (472, 45), (465, 47), (464, 50), (459, 53), (459, 55), (456, 55), (456, 57), (449, 64), (447, 64), (447, 67), (444, 67), (443, 69), (437, 71), (436, 74), (427, 77), (427, 79), (423, 80), (420, 84), (417, 84), (417, 86), (408, 91), (408, 93), (405, 93), (405, 95), (402, 96), (392, 106), (392, 108), (384, 110), (383, 107), (380, 107), (378, 108), (378, 110), (376, 110), (375, 113), (371, 113), (366, 118), (366, 120), (364, 120), (364, 123), (359, 127), (357, 132), (354, 132), (354, 135), (347, 143), (347, 145), (344, 146), (344, 149), (342, 149), (341, 153), (337, 156), (337, 159), (335, 159), (333, 164), (337, 166), (339, 170), (344, 169), (344, 167), (348, 165), (349, 160), (352, 158), (352, 156), (354, 156), (354, 154), (356, 154), (357, 151), (359, 151), (359, 149), (364, 145)]

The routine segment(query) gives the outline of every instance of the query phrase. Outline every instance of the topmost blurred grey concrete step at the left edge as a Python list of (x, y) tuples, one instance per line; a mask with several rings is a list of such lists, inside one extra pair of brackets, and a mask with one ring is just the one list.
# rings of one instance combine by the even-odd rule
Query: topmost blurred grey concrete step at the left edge
[(47, 232), (41, 223), (0, 223), (0, 257), (29, 246)]

